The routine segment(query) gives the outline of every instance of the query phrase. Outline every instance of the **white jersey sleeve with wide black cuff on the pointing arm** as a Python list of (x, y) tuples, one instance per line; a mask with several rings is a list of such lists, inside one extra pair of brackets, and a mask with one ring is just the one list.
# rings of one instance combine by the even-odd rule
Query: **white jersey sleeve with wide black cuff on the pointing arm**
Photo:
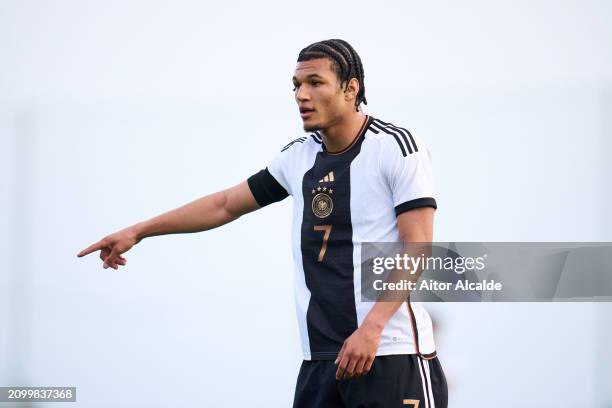
[(284, 200), (289, 196), (286, 163), (289, 154), (281, 152), (263, 170), (253, 174), (247, 183), (260, 207)]

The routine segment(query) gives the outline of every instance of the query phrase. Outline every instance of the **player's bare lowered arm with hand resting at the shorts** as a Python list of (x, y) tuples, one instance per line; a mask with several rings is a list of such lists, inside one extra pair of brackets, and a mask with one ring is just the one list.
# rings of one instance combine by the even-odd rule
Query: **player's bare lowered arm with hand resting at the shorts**
[[(402, 242), (431, 242), (433, 239), (434, 209), (415, 208), (397, 217)], [(336, 364), (337, 379), (347, 379), (370, 371), (380, 336), (389, 319), (405, 301), (379, 301), (370, 309), (361, 326), (346, 339)]]

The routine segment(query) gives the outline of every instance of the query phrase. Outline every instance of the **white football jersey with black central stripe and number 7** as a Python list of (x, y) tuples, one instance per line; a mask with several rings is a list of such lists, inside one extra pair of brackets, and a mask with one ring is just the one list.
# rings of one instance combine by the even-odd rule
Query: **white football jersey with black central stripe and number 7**
[[(331, 153), (319, 132), (282, 148), (249, 177), (260, 206), (293, 197), (295, 307), (306, 360), (335, 359), (374, 306), (361, 300), (361, 245), (399, 242), (397, 216), (437, 208), (430, 154), (408, 130), (366, 116), (350, 146)], [(431, 319), (406, 301), (376, 355), (435, 357)]]

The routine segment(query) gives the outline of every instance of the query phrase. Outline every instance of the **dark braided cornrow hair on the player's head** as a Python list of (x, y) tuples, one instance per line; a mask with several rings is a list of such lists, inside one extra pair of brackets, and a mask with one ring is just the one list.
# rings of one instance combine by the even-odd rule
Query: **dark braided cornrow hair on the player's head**
[(332, 61), (332, 69), (340, 78), (341, 84), (348, 83), (352, 78), (359, 81), (359, 92), (355, 98), (355, 109), (357, 111), (362, 102), (364, 105), (368, 104), (365, 98), (361, 58), (349, 43), (344, 40), (332, 39), (310, 44), (300, 51), (298, 62), (317, 58), (329, 58)]

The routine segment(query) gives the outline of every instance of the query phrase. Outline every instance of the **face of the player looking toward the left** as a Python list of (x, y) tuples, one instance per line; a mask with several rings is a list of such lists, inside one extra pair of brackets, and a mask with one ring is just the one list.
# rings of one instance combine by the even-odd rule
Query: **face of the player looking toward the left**
[(293, 86), (307, 132), (329, 128), (355, 111), (358, 81), (351, 79), (342, 87), (328, 58), (298, 62)]

